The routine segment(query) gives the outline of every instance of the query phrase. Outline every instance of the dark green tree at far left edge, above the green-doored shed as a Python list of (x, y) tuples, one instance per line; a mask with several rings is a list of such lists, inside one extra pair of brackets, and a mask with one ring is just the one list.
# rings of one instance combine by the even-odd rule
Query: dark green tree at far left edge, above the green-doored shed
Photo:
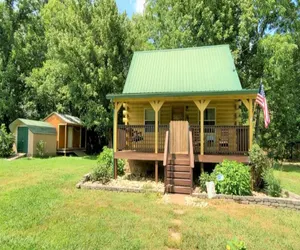
[(0, 123), (28, 117), (25, 78), (44, 60), (43, 1), (0, 2)]

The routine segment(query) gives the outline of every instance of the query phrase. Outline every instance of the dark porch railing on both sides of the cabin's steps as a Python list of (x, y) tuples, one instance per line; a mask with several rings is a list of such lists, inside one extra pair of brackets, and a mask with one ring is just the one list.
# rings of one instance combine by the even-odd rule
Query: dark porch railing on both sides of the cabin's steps
[[(164, 152), (169, 125), (158, 127), (158, 152)], [(200, 126), (190, 125), (195, 154), (200, 154)], [(204, 126), (204, 154), (238, 154), (248, 152), (248, 126)], [(118, 125), (117, 149), (155, 152), (155, 125)]]

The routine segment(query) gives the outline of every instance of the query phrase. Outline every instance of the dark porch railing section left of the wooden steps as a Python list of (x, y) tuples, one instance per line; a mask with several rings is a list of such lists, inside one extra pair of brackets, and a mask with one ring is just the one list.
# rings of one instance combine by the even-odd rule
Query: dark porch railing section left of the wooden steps
[[(164, 139), (169, 125), (158, 126), (158, 152), (164, 152)], [(155, 152), (155, 125), (118, 125), (118, 150)]]

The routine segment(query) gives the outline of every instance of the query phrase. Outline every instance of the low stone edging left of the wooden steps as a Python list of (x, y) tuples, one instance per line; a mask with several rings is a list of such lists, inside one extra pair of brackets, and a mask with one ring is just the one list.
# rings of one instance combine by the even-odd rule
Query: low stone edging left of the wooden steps
[(153, 190), (153, 189), (143, 189), (143, 188), (130, 188), (130, 187), (113, 187), (113, 186), (105, 186), (101, 184), (93, 184), (93, 183), (84, 183), (79, 182), (76, 185), (77, 188), (81, 189), (94, 189), (94, 190), (105, 190), (105, 191), (115, 191), (115, 192), (131, 192), (131, 193), (161, 193), (164, 192)]

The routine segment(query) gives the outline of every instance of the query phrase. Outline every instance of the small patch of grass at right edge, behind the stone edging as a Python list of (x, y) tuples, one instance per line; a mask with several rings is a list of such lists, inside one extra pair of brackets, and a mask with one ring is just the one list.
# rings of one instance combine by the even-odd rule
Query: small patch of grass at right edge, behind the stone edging
[(283, 165), (274, 171), (284, 189), (300, 195), (300, 164)]

